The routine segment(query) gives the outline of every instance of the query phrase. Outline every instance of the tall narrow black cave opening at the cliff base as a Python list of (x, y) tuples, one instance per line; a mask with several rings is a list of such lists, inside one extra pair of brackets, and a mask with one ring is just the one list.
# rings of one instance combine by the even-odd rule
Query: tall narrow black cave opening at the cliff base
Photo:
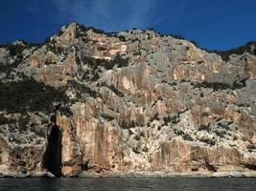
[(54, 123), (48, 136), (48, 144), (43, 159), (43, 167), (56, 177), (61, 177), (61, 140), (62, 133), (56, 123)]

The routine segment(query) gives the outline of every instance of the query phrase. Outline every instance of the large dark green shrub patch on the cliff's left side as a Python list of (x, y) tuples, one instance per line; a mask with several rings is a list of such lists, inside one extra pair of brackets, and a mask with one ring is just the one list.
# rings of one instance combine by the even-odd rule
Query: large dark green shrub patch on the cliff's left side
[(54, 102), (67, 102), (63, 90), (37, 82), (33, 78), (23, 81), (0, 82), (0, 110), (10, 113), (27, 111), (53, 112)]

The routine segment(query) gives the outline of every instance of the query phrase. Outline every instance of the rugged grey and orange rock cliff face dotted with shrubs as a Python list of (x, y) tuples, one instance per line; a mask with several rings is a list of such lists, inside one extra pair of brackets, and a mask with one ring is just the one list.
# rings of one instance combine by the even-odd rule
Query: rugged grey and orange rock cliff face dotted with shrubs
[[(256, 170), (256, 49), (72, 23), (0, 48), (0, 172)], [(225, 54), (226, 56), (226, 54)]]

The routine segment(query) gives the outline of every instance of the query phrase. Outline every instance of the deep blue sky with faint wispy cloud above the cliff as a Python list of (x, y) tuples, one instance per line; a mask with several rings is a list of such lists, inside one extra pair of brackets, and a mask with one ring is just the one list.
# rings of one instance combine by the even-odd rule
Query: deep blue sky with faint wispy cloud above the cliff
[(256, 40), (256, 1), (0, 0), (0, 44), (42, 42), (74, 21), (105, 31), (152, 27), (226, 50)]

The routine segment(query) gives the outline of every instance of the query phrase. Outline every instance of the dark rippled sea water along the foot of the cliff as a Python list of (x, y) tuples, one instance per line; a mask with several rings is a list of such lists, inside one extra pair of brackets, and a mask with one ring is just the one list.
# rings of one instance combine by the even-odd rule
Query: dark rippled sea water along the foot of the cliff
[(0, 179), (0, 191), (169, 190), (256, 191), (255, 178)]

